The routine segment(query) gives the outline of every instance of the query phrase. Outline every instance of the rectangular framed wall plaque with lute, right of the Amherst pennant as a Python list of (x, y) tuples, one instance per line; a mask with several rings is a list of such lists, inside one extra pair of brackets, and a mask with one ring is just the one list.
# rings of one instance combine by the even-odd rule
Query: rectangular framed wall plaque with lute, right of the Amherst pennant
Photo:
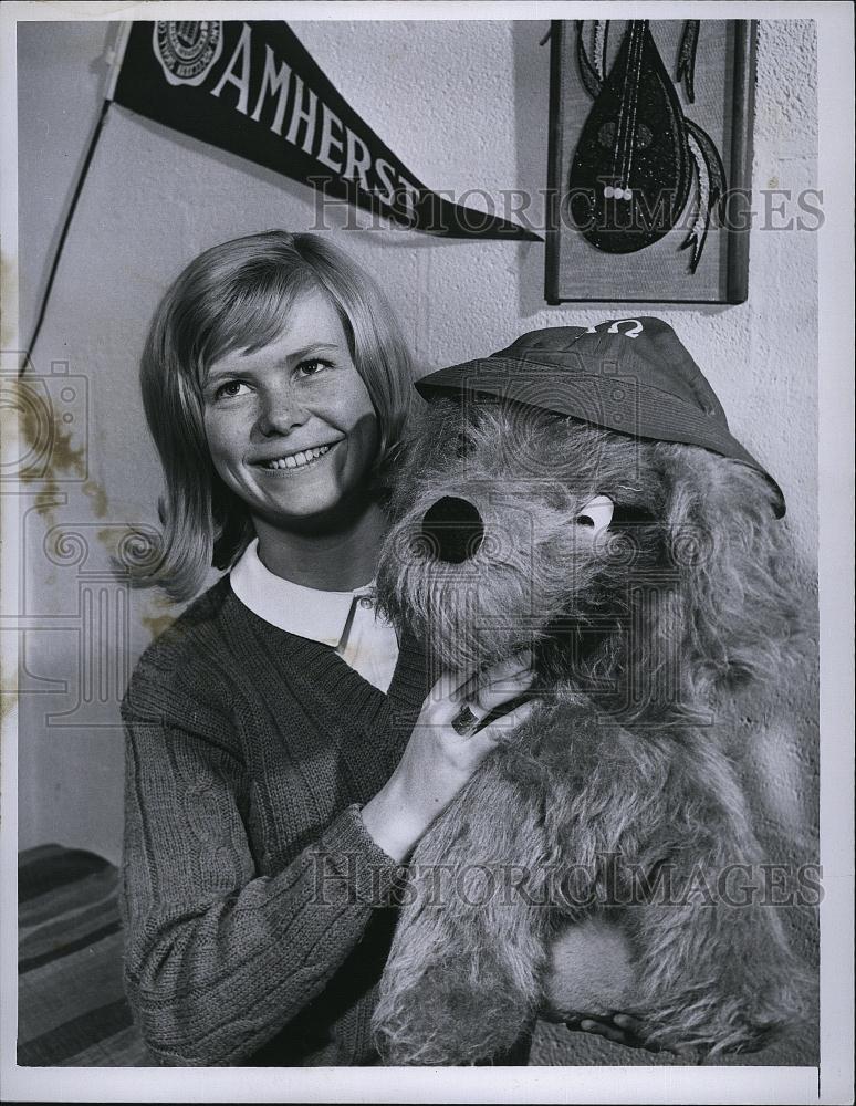
[(545, 298), (742, 303), (752, 20), (556, 20)]

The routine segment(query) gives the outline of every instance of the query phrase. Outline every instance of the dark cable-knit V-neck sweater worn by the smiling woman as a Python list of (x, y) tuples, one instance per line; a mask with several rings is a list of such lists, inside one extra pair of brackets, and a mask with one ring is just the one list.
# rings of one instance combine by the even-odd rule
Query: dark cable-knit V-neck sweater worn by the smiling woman
[(228, 577), (145, 651), (123, 701), (125, 988), (155, 1062), (372, 1064), (396, 863), (361, 806), (429, 677), (387, 695), (259, 618)]

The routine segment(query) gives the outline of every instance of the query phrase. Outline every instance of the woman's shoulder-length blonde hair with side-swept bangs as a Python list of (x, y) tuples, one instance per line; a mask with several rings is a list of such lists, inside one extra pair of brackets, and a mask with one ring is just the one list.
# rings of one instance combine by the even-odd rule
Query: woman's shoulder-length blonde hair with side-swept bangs
[(375, 473), (397, 446), (413, 373), (398, 324), (375, 282), (314, 234), (270, 230), (206, 250), (164, 295), (143, 353), (143, 404), (166, 494), (158, 504), (161, 546), (150, 563), (134, 571), (139, 586), (159, 584), (176, 598), (189, 598), (211, 566), (230, 567), (246, 549), (252, 525), (211, 462), (202, 384), (218, 358), (272, 342), (295, 300), (319, 289), (338, 312), (378, 417)]

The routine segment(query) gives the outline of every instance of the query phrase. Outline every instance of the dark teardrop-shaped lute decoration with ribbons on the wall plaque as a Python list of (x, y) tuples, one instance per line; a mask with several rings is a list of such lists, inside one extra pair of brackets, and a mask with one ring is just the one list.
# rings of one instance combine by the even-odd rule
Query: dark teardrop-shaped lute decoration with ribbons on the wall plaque
[[(677, 223), (695, 194), (689, 233), (691, 273), (701, 259), (711, 218), (725, 194), (725, 170), (710, 136), (688, 119), (651, 35), (649, 20), (630, 20), (606, 74), (609, 23), (595, 20), (592, 51), (577, 21), (580, 75), (594, 101), (571, 166), (571, 215), (582, 236), (604, 253), (636, 253)], [(695, 98), (699, 21), (687, 20), (678, 81)]]

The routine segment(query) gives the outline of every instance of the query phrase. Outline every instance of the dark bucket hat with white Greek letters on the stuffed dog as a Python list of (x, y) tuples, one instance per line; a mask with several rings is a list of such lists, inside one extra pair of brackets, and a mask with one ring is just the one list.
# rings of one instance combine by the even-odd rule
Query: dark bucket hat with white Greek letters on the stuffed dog
[(635, 438), (700, 446), (756, 469), (782, 489), (734, 438), (716, 393), (661, 319), (610, 319), (596, 326), (552, 326), (523, 334), (498, 353), (422, 377), (417, 392), (491, 395)]

